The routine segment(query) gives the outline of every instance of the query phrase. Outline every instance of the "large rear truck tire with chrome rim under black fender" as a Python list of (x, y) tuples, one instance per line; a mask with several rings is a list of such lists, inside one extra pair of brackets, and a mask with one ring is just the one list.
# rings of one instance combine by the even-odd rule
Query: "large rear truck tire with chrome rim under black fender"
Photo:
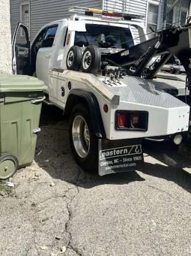
[(70, 115), (69, 138), (73, 156), (84, 170), (98, 168), (98, 138), (87, 107), (76, 105)]

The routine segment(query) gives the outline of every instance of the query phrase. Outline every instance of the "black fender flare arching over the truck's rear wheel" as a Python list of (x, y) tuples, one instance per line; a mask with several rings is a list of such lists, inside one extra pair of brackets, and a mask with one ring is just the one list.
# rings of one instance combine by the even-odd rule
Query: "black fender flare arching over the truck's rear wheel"
[(104, 131), (100, 106), (98, 104), (96, 96), (92, 92), (87, 92), (82, 89), (72, 89), (67, 95), (64, 115), (69, 115), (74, 104), (84, 103), (84, 101), (88, 104), (96, 136), (100, 138), (105, 138), (106, 134)]

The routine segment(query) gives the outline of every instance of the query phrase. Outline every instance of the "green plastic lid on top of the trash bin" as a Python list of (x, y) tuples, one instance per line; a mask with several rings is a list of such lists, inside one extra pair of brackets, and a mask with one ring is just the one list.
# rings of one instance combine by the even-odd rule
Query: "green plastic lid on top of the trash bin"
[(44, 91), (47, 86), (36, 77), (13, 75), (0, 71), (0, 92)]

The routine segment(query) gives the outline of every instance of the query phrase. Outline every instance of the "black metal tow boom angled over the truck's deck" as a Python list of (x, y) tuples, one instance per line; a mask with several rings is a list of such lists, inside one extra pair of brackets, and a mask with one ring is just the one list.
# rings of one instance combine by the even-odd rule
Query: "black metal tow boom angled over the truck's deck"
[[(159, 31), (155, 38), (137, 44), (129, 49), (122, 50), (121, 52), (108, 54), (106, 60), (112, 65), (124, 67), (129, 76), (153, 79), (168, 59), (172, 55), (175, 55), (185, 68), (190, 89), (190, 28), (191, 23), (185, 26), (173, 26), (171, 29)], [(149, 67), (149, 62), (155, 56), (161, 56), (161, 58)]]

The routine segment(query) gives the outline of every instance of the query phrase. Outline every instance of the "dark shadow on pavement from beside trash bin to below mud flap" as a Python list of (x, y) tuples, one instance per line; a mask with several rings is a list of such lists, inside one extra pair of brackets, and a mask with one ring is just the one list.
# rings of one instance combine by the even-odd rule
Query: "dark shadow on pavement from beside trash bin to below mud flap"
[[(68, 119), (63, 117), (63, 111), (57, 107), (42, 105), (40, 127), (35, 161), (53, 179), (64, 180), (83, 188), (144, 180), (135, 171), (100, 177), (97, 171), (84, 171), (79, 168), (70, 149)], [(41, 153), (38, 155), (38, 152)]]

